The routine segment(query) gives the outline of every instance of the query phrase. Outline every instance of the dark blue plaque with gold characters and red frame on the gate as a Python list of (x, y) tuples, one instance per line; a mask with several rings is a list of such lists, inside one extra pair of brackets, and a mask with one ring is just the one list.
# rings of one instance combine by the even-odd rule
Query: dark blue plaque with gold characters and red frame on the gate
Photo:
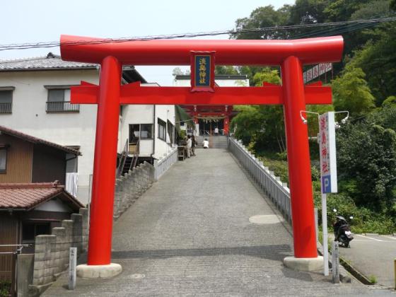
[(214, 52), (191, 54), (191, 91), (214, 92)]

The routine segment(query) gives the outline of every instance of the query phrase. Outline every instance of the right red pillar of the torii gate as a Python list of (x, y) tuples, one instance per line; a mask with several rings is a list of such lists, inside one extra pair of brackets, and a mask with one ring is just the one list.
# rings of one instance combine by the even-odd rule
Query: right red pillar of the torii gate
[[(310, 173), (308, 128), (300, 117), (305, 110), (301, 62), (289, 57), (281, 66), (284, 87), (284, 119), (293, 221), (294, 257), (318, 257)], [(308, 89), (309, 87), (306, 87)], [(315, 88), (315, 87), (312, 87)]]

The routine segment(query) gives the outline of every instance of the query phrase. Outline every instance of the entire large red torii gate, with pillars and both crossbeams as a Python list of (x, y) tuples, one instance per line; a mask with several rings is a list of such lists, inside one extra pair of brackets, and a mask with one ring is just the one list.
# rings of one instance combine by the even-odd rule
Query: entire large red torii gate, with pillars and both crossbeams
[[(140, 40), (113, 42), (62, 35), (62, 59), (101, 65), (100, 83), (71, 87), (71, 103), (98, 104), (91, 199), (88, 266), (111, 260), (112, 210), (115, 191), (118, 118), (121, 104), (284, 105), (294, 256), (317, 258), (308, 129), (300, 112), (305, 104), (330, 104), (330, 87), (304, 86), (303, 64), (338, 62), (341, 36), (303, 40)], [(122, 65), (189, 65), (191, 52), (214, 52), (219, 65), (281, 66), (282, 86), (190, 87), (121, 86)]]

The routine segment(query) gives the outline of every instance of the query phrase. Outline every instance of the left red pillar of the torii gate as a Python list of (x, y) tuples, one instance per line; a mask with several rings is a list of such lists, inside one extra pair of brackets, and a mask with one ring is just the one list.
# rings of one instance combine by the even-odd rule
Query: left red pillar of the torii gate
[(120, 115), (121, 64), (106, 57), (100, 70), (89, 226), (88, 265), (110, 264)]

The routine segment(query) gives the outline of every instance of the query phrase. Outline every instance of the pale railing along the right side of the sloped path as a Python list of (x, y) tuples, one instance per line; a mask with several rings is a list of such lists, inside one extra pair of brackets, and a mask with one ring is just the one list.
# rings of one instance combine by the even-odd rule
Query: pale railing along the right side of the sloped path
[(291, 224), (290, 190), (287, 184), (281, 182), (280, 177), (275, 176), (262, 161), (255, 158), (255, 155), (252, 155), (241, 141), (228, 137), (228, 150), (274, 202), (284, 219)]

